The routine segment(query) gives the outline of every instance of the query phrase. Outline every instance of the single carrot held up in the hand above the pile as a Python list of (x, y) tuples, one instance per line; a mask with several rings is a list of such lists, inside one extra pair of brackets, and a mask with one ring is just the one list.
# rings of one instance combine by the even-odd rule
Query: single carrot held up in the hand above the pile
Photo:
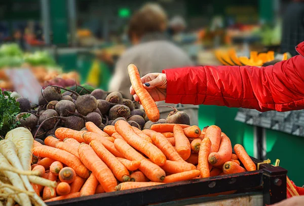
[(141, 105), (151, 122), (157, 122), (160, 119), (160, 111), (154, 99), (149, 92), (143, 87), (137, 67), (134, 64), (128, 65), (128, 73), (132, 87), (139, 97)]

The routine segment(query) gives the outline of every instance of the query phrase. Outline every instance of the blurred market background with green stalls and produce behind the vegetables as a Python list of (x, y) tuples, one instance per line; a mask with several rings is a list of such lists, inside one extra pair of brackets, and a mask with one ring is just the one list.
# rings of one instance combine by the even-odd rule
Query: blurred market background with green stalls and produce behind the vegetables
[[(1, 1), (0, 88), (14, 90), (14, 73), (6, 71), (23, 68), (41, 85), (73, 86), (76, 81), (108, 90), (117, 61), (134, 43), (128, 35), (130, 19), (147, 2), (164, 9), (164, 33), (195, 65), (272, 65), (296, 55), (294, 46), (304, 41), (302, 1)], [(273, 125), (255, 126), (256, 116), (248, 119), (238, 112), (200, 106), (199, 126), (218, 125), (250, 156), (272, 163), (280, 159), (290, 179), (301, 184), (303, 161), (290, 160), (302, 155), (304, 124), (297, 132), (282, 132)]]

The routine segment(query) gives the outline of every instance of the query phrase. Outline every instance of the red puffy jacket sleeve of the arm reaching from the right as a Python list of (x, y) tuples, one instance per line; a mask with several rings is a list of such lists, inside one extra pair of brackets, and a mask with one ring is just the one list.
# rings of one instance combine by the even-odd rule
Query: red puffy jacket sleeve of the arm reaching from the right
[(164, 70), (167, 103), (279, 112), (304, 109), (304, 42), (274, 66), (198, 66)]

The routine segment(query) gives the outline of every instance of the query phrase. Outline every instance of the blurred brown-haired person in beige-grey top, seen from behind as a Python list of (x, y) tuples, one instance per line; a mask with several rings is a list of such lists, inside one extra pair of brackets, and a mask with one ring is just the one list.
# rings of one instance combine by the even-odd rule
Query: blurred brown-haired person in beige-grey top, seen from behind
[[(175, 44), (167, 39), (167, 16), (156, 4), (147, 4), (131, 18), (128, 36), (133, 46), (118, 60), (114, 75), (109, 83), (109, 91), (120, 91), (124, 98), (132, 98), (127, 67), (130, 63), (138, 67), (141, 76), (152, 72), (161, 72), (165, 68), (193, 65), (189, 57)], [(186, 112), (192, 125), (198, 125), (198, 106), (165, 104)], [(171, 108), (159, 108), (161, 118), (166, 118)]]

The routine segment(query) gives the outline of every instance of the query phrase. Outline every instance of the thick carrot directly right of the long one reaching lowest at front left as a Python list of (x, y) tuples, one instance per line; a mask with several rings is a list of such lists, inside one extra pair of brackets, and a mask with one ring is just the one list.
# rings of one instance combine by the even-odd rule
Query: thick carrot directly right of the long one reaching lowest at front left
[[(94, 149), (98, 157), (110, 168), (114, 176), (120, 182), (130, 181), (130, 174), (127, 168), (119, 162), (119, 160), (109, 152), (101, 142), (92, 140), (90, 146)], [(94, 190), (95, 191), (95, 190)]]

